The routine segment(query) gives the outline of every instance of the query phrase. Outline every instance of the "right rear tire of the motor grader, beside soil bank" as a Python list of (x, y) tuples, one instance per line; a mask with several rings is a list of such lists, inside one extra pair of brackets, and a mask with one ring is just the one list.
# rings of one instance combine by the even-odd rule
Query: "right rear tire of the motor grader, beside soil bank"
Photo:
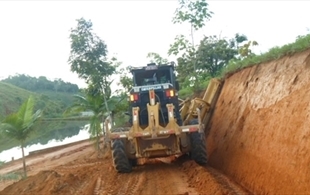
[[(193, 119), (189, 122), (190, 125), (198, 124), (197, 119)], [(190, 133), (191, 140), (191, 158), (200, 165), (205, 165), (208, 162), (206, 138), (204, 133), (193, 132)]]

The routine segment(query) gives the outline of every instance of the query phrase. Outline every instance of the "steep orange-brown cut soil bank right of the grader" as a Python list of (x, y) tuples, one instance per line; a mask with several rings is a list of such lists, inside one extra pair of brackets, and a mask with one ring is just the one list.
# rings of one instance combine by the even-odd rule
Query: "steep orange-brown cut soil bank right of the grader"
[(310, 194), (310, 50), (225, 80), (210, 164), (255, 194)]

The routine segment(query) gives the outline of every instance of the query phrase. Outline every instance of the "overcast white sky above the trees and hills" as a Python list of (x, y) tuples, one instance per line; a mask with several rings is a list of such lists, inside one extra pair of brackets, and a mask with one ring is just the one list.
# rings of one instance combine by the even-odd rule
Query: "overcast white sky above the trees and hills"
[[(310, 28), (310, 1), (208, 1), (214, 12), (196, 33), (248, 36), (260, 45), (256, 52), (293, 42)], [(28, 74), (85, 84), (70, 72), (69, 30), (76, 19), (93, 22), (94, 32), (117, 54), (123, 65), (142, 66), (149, 52), (164, 57), (178, 34), (189, 25), (171, 22), (176, 0), (157, 1), (0, 1), (0, 79)], [(174, 60), (171, 58), (171, 60)]]

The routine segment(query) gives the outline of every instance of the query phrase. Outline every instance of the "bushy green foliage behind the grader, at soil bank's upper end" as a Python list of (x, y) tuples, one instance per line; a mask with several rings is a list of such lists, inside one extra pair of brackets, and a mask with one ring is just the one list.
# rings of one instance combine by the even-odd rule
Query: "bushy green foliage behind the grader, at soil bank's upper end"
[[(187, 88), (200, 90), (206, 87), (201, 81), (218, 76), (230, 60), (241, 58), (238, 51), (250, 55), (250, 44), (244, 44), (245, 41), (247, 37), (239, 34), (231, 39), (209, 36), (204, 37), (195, 48), (185, 36), (177, 36), (168, 54), (180, 56), (177, 59), (176, 71), (181, 88), (184, 91), (187, 91)], [(192, 71), (194, 69), (196, 71)]]

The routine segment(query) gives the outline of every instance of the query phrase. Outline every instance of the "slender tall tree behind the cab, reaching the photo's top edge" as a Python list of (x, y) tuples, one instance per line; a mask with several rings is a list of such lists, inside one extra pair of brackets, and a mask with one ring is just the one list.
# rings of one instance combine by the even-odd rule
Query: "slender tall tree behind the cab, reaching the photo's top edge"
[[(199, 76), (196, 73), (197, 48), (194, 42), (194, 30), (204, 27), (206, 22), (210, 20), (213, 12), (209, 11), (206, 0), (179, 0), (179, 5), (180, 6), (175, 10), (175, 16), (173, 17), (172, 22), (174, 24), (188, 22), (191, 25), (192, 41), (190, 43), (184, 35), (178, 35), (175, 38), (174, 43), (170, 45), (168, 55), (177, 56), (183, 51), (183, 54), (181, 55), (183, 59), (180, 57), (178, 58), (178, 66), (176, 68), (177, 72), (180, 74), (180, 84), (181, 86), (183, 85), (182, 87), (184, 87), (184, 85), (194, 85), (197, 87)], [(187, 71), (187, 73), (183, 72), (184, 74), (182, 75), (180, 71)]]

